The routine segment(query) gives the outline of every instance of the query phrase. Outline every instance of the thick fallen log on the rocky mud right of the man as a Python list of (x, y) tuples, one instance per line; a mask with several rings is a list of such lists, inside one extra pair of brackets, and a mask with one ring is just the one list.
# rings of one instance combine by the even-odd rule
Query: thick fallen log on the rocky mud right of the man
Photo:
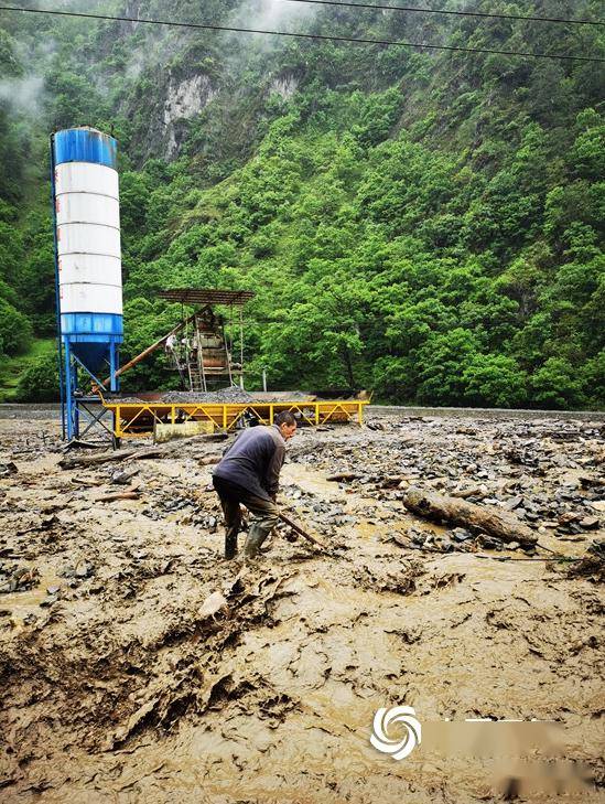
[(523, 525), (515, 514), (500, 511), (493, 505), (475, 505), (460, 497), (446, 497), (417, 486), (408, 489), (403, 505), (426, 519), (445, 521), (483, 530), (503, 542), (518, 542), (525, 547), (532, 547), (538, 542), (537, 534)]

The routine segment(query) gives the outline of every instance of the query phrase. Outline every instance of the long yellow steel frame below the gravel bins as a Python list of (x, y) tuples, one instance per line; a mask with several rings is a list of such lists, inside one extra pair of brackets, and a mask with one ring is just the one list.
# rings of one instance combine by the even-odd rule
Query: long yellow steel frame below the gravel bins
[[(346, 421), (357, 419), (364, 424), (364, 406), (367, 400), (347, 399), (329, 401), (283, 401), (283, 403), (106, 403), (104, 407), (114, 412), (114, 436), (116, 438), (136, 438), (148, 436), (153, 430), (153, 424), (190, 421), (192, 419), (207, 419), (220, 430), (234, 430), (246, 412), (253, 414), (263, 425), (273, 422), (274, 417), (282, 410), (300, 414), (309, 425), (324, 425), (328, 421)], [(151, 422), (149, 421), (151, 418)], [(141, 420), (142, 419), (142, 420)], [(145, 420), (147, 419), (147, 420)], [(137, 426), (137, 422), (139, 425)]]

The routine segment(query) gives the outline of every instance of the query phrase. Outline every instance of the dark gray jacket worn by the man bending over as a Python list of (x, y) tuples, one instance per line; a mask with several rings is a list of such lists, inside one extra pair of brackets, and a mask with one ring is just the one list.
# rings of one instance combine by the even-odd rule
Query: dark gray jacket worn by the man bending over
[(238, 436), (213, 474), (263, 500), (271, 500), (278, 493), (284, 458), (285, 440), (279, 427), (259, 425)]

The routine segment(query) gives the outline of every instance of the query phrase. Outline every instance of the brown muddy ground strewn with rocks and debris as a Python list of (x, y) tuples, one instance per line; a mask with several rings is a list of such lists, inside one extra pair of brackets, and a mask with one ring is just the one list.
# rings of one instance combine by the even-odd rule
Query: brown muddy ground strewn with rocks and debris
[[(489, 759), (431, 743), (466, 718), (560, 721), (603, 798), (603, 426), (370, 426), (289, 446), (283, 502), (329, 554), (283, 528), (241, 565), (208, 486), (224, 444), (64, 470), (55, 421), (0, 421), (1, 801), (499, 801)], [(540, 547), (411, 516), (410, 484)], [(369, 744), (398, 704), (424, 726), (402, 761)]]

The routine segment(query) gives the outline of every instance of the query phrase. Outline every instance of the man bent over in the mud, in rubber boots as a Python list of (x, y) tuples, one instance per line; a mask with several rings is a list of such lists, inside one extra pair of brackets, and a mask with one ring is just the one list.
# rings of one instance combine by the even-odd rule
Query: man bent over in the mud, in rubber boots
[(270, 427), (251, 427), (238, 436), (213, 472), (213, 484), (225, 516), (225, 558), (237, 553), (241, 527), (240, 504), (253, 519), (244, 545), (246, 557), (256, 556), (279, 522), (276, 499), (285, 442), (296, 432), (296, 419), (284, 410)]

